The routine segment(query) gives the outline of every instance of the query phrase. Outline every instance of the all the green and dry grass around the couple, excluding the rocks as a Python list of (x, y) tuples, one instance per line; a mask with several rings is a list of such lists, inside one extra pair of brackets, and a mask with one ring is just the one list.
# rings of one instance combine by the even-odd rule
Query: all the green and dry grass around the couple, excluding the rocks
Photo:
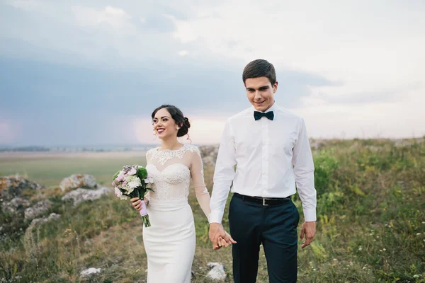
[[(62, 215), (32, 233), (24, 233), (28, 223), (22, 223), (21, 234), (0, 242), (0, 279), (81, 282), (81, 270), (100, 267), (101, 275), (87, 282), (146, 282), (142, 221), (132, 207), (114, 197), (69, 207), (55, 187), (72, 173), (92, 173), (109, 182), (117, 167), (141, 160), (0, 158), (1, 173), (19, 171), (51, 185), (30, 200), (49, 197), (55, 203), (52, 212)], [(314, 164), (317, 235), (310, 247), (299, 249), (298, 282), (425, 282), (424, 139), (326, 141), (314, 150)], [(209, 190), (212, 173), (205, 168)], [(294, 201), (302, 212), (297, 195)], [(197, 236), (193, 282), (208, 282), (210, 261), (222, 262), (232, 282), (231, 250), (212, 251), (208, 222), (193, 192), (189, 202)], [(10, 218), (0, 214), (1, 222)], [(262, 251), (257, 282), (268, 282)]]

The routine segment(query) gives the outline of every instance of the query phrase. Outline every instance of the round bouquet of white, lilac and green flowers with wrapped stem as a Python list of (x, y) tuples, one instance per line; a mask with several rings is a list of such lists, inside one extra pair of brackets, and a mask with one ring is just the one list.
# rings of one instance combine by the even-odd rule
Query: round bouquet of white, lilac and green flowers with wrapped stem
[(145, 227), (149, 227), (149, 215), (147, 214), (146, 202), (143, 200), (146, 193), (152, 188), (149, 187), (153, 183), (153, 179), (149, 178), (146, 168), (142, 166), (123, 166), (123, 170), (118, 171), (113, 175), (112, 185), (115, 187), (115, 195), (121, 200), (138, 197), (142, 200), (142, 216)]

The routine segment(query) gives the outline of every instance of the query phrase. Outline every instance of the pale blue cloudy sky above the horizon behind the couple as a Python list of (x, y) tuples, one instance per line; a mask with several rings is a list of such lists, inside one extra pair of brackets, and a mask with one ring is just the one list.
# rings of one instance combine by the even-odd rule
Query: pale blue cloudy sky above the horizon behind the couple
[(0, 145), (152, 144), (163, 103), (215, 143), (258, 58), (310, 137), (421, 137), (424, 30), (422, 0), (2, 0)]

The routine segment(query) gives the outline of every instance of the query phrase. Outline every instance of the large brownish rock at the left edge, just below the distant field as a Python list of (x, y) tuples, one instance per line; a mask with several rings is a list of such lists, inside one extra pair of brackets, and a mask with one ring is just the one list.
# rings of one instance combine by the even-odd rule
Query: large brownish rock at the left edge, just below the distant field
[(44, 188), (42, 185), (19, 175), (0, 177), (0, 199), (4, 202), (15, 197), (21, 197), (25, 190), (40, 190), (42, 188)]

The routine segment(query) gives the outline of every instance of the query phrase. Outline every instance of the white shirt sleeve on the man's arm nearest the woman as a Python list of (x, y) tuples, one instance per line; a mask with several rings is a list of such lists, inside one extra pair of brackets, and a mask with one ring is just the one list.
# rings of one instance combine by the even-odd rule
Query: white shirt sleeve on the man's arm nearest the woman
[(229, 196), (230, 185), (234, 178), (234, 166), (236, 165), (236, 148), (234, 144), (234, 134), (227, 120), (225, 129), (220, 141), (217, 161), (214, 171), (214, 186), (211, 194), (211, 214), (210, 223), (222, 223), (227, 197)]

